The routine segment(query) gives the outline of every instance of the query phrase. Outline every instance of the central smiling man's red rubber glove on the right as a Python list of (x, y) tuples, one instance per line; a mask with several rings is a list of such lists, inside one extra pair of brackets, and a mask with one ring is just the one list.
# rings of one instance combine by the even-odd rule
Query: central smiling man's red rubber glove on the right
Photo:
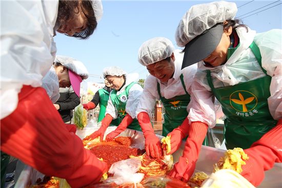
[(168, 134), (168, 136), (171, 136), (170, 137), (171, 152), (167, 153), (167, 155), (173, 154), (180, 147), (182, 140), (188, 135), (188, 133), (189, 133), (189, 120), (188, 118), (185, 118), (185, 120), (180, 126), (173, 129), (171, 133)]

